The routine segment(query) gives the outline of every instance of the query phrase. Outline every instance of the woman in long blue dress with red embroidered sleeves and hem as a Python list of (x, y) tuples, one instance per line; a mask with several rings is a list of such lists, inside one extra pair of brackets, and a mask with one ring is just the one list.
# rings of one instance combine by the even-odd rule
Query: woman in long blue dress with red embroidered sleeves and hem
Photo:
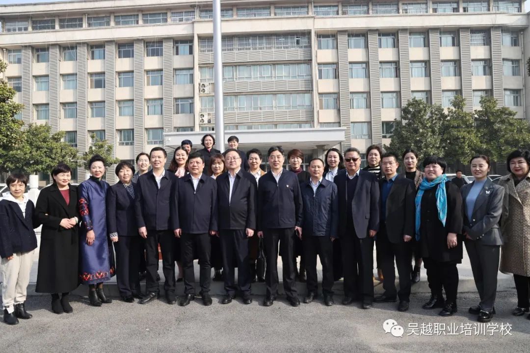
[[(101, 180), (105, 174), (105, 160), (99, 155), (89, 161), (90, 178), (79, 185), (80, 280), (89, 285), (89, 300), (93, 306), (111, 303), (103, 293), (103, 282), (115, 274), (112, 241), (107, 232), (105, 196), (109, 184)], [(117, 240), (117, 239), (116, 239)]]

